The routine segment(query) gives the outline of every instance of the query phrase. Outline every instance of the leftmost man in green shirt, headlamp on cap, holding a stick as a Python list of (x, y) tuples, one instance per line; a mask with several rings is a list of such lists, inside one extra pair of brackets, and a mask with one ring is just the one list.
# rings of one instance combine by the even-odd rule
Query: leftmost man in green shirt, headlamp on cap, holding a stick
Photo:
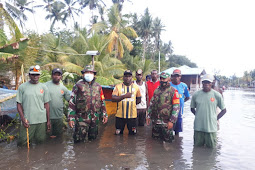
[[(50, 130), (50, 95), (48, 88), (39, 83), (40, 66), (31, 66), (29, 69), (30, 81), (19, 86), (17, 92), (17, 110), (21, 119), (18, 145), (27, 143), (27, 130), (29, 140), (41, 143), (46, 139), (46, 126)], [(47, 122), (47, 125), (46, 125)]]

